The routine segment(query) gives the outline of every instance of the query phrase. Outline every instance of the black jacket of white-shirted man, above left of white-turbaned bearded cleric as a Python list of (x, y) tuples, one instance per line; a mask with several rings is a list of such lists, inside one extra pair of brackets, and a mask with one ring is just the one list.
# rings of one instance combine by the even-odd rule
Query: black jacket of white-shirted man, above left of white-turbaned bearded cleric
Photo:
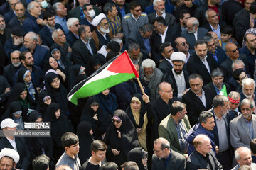
[[(164, 42), (169, 41), (174, 45), (174, 40), (176, 38), (175, 32), (171, 29), (171, 27), (167, 28), (166, 37)], [(155, 62), (159, 62), (159, 60), (163, 59), (161, 52), (159, 50), (159, 45), (161, 45), (161, 36), (158, 33), (154, 33), (151, 38), (151, 47), (152, 47), (152, 55), (154, 57)]]

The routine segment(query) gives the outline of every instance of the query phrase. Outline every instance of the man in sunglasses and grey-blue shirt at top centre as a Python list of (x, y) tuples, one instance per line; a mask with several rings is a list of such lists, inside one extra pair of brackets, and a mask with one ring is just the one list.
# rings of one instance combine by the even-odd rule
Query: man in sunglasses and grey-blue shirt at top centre
[(127, 40), (132, 30), (139, 30), (145, 23), (149, 23), (146, 13), (142, 13), (142, 7), (138, 1), (129, 3), (130, 13), (122, 18), (124, 37)]

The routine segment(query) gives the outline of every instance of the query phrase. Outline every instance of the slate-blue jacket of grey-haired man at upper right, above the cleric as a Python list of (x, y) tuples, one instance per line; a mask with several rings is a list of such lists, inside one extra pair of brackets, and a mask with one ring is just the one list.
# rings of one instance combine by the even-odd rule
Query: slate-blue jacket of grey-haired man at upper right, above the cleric
[[(198, 27), (198, 40), (202, 39), (206, 35), (206, 33), (208, 33), (208, 30), (206, 30), (205, 28)], [(189, 49), (193, 50), (195, 48), (195, 42), (196, 42), (195, 35), (193, 33), (188, 33), (187, 30), (183, 30), (181, 32), (181, 36), (183, 38), (186, 38), (189, 44)]]

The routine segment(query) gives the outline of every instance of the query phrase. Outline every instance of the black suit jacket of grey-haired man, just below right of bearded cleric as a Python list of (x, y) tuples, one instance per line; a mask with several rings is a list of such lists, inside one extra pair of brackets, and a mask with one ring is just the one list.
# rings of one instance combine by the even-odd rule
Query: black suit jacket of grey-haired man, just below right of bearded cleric
[(202, 111), (207, 111), (212, 107), (214, 94), (212, 90), (203, 87), (206, 96), (206, 107), (203, 105), (202, 101), (189, 90), (186, 94), (182, 96), (183, 103), (186, 103), (186, 110), (188, 119), (191, 123), (191, 126), (195, 125), (198, 122), (198, 117)]

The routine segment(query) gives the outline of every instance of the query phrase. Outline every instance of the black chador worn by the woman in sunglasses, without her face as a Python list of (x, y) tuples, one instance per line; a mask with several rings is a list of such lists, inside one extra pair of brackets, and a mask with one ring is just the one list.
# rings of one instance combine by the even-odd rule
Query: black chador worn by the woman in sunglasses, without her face
[[(114, 115), (117, 115), (122, 120), (122, 125), (117, 129), (114, 123), (111, 123), (107, 129), (104, 141), (111, 148), (121, 150), (127, 156), (131, 149), (139, 147), (138, 135), (134, 125), (132, 125), (132, 121), (129, 120), (129, 117), (124, 111), (118, 109), (114, 111)], [(118, 137), (117, 130), (121, 132), (121, 139)]]

